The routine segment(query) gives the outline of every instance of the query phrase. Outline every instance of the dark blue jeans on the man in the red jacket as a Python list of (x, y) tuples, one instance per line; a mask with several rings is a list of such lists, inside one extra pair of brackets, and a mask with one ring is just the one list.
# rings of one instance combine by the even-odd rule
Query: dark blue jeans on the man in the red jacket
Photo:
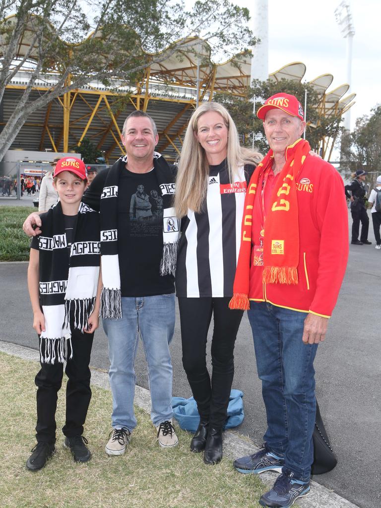
[(315, 422), (313, 360), (317, 344), (302, 341), (307, 314), (250, 302), (247, 311), (262, 380), (267, 431), (264, 439), (296, 480), (308, 481), (313, 462)]

